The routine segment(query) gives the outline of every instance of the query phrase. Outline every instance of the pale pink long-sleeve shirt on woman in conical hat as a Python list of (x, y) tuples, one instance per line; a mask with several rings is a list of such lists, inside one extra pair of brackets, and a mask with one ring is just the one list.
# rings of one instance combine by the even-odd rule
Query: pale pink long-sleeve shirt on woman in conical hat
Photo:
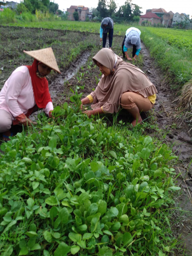
[[(13, 120), (16, 116), (27, 114), (28, 109), (36, 105), (31, 76), (26, 66), (16, 68), (5, 82), (0, 92), (0, 108), (9, 112)], [(43, 108), (49, 115), (53, 110), (52, 102), (48, 102)]]

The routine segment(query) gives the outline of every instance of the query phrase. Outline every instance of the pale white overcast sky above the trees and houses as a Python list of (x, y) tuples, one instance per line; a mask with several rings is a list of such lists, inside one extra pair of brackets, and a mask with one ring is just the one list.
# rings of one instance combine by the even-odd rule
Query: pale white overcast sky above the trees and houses
[[(20, 3), (20, 0), (7, 0), (8, 2)], [(61, 11), (67, 11), (71, 5), (84, 5), (85, 7), (96, 8), (99, 0), (51, 0), (54, 3), (59, 4), (59, 9)], [(115, 0), (117, 6), (121, 6), (125, 3), (125, 0)], [(153, 8), (164, 8), (166, 12), (172, 11), (173, 13), (186, 13), (189, 14), (189, 18), (192, 16), (192, 0), (132, 0), (132, 4), (137, 4), (142, 7), (142, 14), (145, 14), (146, 9)]]

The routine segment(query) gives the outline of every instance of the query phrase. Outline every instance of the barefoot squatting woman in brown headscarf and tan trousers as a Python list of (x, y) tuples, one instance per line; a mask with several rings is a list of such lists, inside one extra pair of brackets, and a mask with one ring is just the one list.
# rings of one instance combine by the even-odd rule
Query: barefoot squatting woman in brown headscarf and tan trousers
[(93, 61), (103, 75), (95, 91), (81, 100), (81, 109), (84, 104), (92, 103), (93, 110), (84, 113), (90, 117), (124, 108), (132, 115), (133, 126), (141, 123), (140, 112), (153, 108), (156, 100), (157, 90), (148, 76), (108, 48), (102, 48)]

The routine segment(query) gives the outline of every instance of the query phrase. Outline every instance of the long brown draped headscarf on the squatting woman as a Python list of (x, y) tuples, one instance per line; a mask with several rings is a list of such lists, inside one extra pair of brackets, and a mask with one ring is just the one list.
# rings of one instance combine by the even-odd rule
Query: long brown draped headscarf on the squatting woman
[(109, 76), (102, 75), (94, 91), (97, 103), (93, 102), (93, 109), (103, 107), (106, 113), (117, 112), (124, 92), (136, 92), (144, 98), (157, 93), (155, 85), (140, 68), (123, 61), (112, 50), (102, 48), (92, 59), (111, 71)]

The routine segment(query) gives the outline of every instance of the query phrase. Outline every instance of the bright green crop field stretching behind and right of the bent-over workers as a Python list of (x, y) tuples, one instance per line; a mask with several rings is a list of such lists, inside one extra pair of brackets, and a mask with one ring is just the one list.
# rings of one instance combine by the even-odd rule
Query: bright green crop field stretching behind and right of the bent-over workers
[[(100, 23), (83, 21), (40, 21), (26, 23), (18, 21), (16, 24), (12, 23), (9, 25), (87, 32), (98, 35), (98, 38), (100, 30)], [(176, 89), (176, 91), (180, 90), (191, 79), (192, 31), (141, 27), (133, 23), (131, 25), (115, 24), (114, 35), (124, 36), (125, 31), (130, 26), (136, 26), (141, 30), (141, 40), (149, 48), (162, 70), (166, 71), (172, 88)]]

